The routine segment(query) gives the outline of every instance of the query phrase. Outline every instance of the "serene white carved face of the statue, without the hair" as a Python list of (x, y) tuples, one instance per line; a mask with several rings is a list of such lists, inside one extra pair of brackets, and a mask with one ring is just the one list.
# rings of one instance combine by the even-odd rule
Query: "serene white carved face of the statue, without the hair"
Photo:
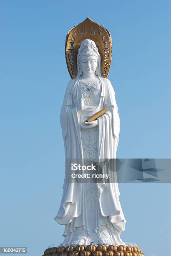
[(80, 68), (83, 74), (90, 75), (94, 74), (97, 68), (97, 57), (96, 56), (81, 56)]

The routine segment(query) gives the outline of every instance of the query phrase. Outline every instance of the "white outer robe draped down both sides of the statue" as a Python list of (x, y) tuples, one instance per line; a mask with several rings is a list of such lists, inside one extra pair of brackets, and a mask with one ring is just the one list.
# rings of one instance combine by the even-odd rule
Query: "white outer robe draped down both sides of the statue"
[[(108, 79), (102, 79), (101, 106), (107, 112), (98, 118), (98, 159), (115, 159), (120, 131), (118, 107), (115, 92)], [(70, 164), (67, 159), (83, 159), (83, 145), (80, 131), (80, 113), (76, 110), (78, 84), (71, 80), (65, 92), (63, 107), (60, 114), (60, 123), (65, 145), (65, 179), (63, 196), (55, 220), (65, 225), (63, 236), (72, 236), (75, 227), (82, 226), (87, 230), (86, 212), (83, 210), (83, 183), (68, 183)], [(113, 172), (116, 176), (116, 172)], [(116, 177), (109, 176), (111, 181)], [(125, 229), (126, 220), (119, 202), (117, 182), (98, 183), (98, 207), (100, 218), (108, 218), (107, 228), (113, 236)], [(100, 228), (100, 227), (98, 227)], [(96, 230), (95, 230), (96, 231)], [(72, 239), (71, 239), (72, 240)], [(114, 239), (113, 239), (114, 240)]]

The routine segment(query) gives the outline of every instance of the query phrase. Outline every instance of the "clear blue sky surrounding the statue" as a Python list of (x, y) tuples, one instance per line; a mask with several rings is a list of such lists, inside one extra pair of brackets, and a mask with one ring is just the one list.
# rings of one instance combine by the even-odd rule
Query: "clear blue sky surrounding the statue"
[[(28, 256), (63, 241), (64, 227), (53, 218), (64, 177), (65, 36), (87, 17), (112, 35), (117, 157), (171, 158), (171, 1), (1, 0), (0, 246), (27, 246)], [(161, 255), (162, 244), (171, 250), (171, 185), (119, 189), (123, 241), (137, 243), (146, 256)]]

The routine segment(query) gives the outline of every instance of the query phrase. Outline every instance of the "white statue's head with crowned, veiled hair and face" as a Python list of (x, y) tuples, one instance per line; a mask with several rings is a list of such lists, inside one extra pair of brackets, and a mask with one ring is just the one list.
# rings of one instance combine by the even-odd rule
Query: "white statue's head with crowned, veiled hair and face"
[(82, 41), (77, 55), (78, 74), (101, 76), (101, 56), (93, 40), (85, 39)]

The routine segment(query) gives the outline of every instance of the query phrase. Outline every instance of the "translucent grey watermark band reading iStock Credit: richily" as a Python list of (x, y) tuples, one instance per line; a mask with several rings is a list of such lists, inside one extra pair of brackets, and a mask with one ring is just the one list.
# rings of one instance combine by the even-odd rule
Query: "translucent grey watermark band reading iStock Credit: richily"
[(171, 159), (67, 159), (67, 182), (171, 182)]

